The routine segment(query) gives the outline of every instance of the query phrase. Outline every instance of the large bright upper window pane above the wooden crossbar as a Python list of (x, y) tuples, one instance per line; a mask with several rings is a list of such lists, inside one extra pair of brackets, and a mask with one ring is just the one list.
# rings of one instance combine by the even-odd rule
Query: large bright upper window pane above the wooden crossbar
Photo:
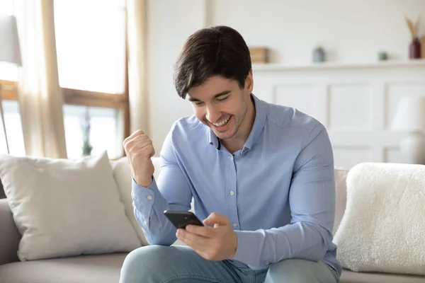
[(60, 86), (124, 93), (124, 1), (55, 1)]

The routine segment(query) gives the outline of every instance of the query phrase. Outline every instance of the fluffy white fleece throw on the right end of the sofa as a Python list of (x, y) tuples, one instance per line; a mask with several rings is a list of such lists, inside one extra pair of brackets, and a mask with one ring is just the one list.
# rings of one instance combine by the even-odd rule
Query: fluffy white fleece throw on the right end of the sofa
[(425, 275), (425, 166), (354, 166), (334, 243), (349, 270)]

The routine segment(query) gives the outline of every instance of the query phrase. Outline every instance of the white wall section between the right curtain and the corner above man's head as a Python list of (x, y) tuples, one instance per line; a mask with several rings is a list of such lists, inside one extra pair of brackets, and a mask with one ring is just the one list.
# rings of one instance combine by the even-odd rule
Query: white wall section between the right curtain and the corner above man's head
[(205, 26), (204, 5), (203, 0), (147, 1), (149, 136), (157, 155), (173, 122), (191, 115), (191, 105), (174, 88), (173, 66), (186, 37)]

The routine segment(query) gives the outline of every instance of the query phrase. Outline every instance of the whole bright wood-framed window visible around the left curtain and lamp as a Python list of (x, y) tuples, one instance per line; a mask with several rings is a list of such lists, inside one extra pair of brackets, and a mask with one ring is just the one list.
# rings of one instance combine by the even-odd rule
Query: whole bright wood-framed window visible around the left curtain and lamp
[[(55, 0), (55, 37), (69, 158), (83, 154), (81, 117), (91, 121), (91, 154), (123, 156), (130, 134), (125, 0)], [(0, 0), (13, 14), (13, 0)], [(25, 153), (16, 81), (18, 70), (0, 62), (0, 87), (11, 154)]]

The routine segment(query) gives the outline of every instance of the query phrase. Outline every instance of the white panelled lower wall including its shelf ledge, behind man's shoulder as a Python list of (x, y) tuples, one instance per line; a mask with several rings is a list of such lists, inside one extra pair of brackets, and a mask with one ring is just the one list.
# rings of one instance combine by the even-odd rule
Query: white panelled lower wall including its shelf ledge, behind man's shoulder
[(404, 162), (405, 133), (389, 124), (401, 96), (425, 96), (425, 60), (320, 67), (255, 65), (254, 94), (295, 107), (327, 127), (336, 166)]

